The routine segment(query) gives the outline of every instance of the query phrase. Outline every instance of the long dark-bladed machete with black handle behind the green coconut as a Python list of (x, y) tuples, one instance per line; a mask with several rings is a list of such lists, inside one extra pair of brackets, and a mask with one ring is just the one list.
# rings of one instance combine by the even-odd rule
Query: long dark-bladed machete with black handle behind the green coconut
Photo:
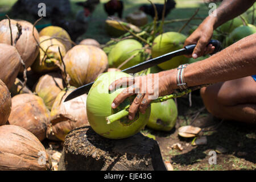
[[(213, 53), (216, 53), (221, 50), (221, 43), (218, 40), (210, 40), (209, 44), (212, 44), (212, 46), (215, 47)], [(133, 67), (123, 69), (122, 72), (125, 72), (125, 73), (140, 72), (144, 69), (147, 69), (147, 68), (153, 67), (155, 65), (158, 65), (160, 63), (163, 63), (165, 61), (168, 61), (168, 60), (172, 59), (173, 57), (181, 56), (181, 55), (189, 55), (193, 52), (195, 47), (196, 47), (196, 44), (191, 44), (191, 45), (185, 46), (184, 48), (179, 49), (177, 51), (172, 51), (165, 55), (155, 57), (154, 59), (150, 59), (150, 60), (144, 61), (142, 63), (139, 63), (137, 65), (134, 65)], [(94, 82), (91, 82), (90, 84), (86, 84), (84, 86), (77, 88), (76, 90), (73, 90), (73, 92), (71, 92), (68, 95), (68, 97), (65, 98), (64, 102), (67, 102), (69, 100), (72, 100), (73, 98), (79, 97), (82, 94), (88, 93), (90, 88), (92, 87), (93, 83)]]

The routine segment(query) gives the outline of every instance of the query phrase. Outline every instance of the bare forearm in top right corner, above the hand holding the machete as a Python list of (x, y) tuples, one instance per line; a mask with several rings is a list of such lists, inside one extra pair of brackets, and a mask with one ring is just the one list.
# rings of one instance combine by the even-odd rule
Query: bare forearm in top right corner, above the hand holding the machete
[(206, 20), (210, 20), (216, 29), (228, 20), (245, 13), (247, 9), (253, 6), (254, 2), (255, 0), (224, 0), (216, 9), (217, 16), (208, 16)]

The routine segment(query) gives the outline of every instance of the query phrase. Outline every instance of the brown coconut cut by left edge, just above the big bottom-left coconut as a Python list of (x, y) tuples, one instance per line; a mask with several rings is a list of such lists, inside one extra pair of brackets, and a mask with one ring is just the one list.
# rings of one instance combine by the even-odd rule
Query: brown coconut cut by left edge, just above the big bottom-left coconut
[(11, 113), (11, 94), (0, 80), (0, 126), (5, 125)]

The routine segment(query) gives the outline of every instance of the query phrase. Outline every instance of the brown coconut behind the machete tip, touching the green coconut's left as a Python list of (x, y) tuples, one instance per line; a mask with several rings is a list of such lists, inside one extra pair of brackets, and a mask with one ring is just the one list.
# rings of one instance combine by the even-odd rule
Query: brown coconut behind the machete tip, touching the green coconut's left
[(60, 92), (51, 110), (51, 127), (48, 127), (48, 133), (54, 134), (55, 137), (63, 141), (69, 131), (76, 127), (89, 125), (86, 114), (86, 94), (64, 102), (74, 89), (72, 87), (68, 91)]

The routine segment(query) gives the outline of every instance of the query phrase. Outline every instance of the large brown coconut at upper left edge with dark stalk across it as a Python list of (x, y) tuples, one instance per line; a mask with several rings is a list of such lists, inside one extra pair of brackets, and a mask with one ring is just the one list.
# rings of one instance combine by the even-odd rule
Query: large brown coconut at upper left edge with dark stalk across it
[[(11, 31), (13, 35), (13, 44), (14, 39), (17, 35), (18, 28), (16, 23), (19, 23), (22, 26), (22, 35), (16, 42), (16, 49), (19, 52), (19, 55), (22, 57), (26, 68), (30, 67), (35, 59), (38, 56), (39, 48), (37, 43), (33, 37), (33, 25), (30, 22), (25, 20), (10, 20), (11, 22)], [(5, 43), (11, 45), (11, 34), (10, 34), (10, 27), (9, 27), (9, 20), (3, 19), (0, 22), (0, 43)], [(39, 41), (39, 34), (38, 31), (34, 28), (34, 35), (35, 38)], [(20, 68), (20, 71), (23, 71), (23, 67)]]

